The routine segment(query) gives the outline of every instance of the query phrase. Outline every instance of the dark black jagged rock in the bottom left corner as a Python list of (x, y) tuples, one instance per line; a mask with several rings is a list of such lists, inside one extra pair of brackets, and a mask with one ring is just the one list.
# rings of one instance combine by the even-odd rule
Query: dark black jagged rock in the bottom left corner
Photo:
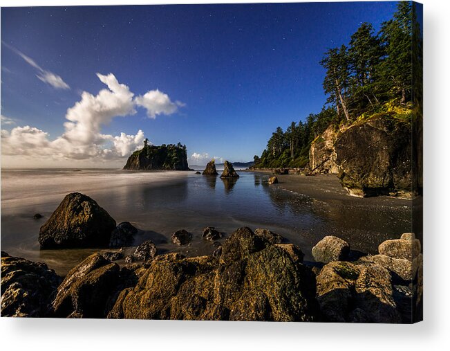
[(61, 282), (46, 264), (1, 252), (1, 316), (47, 317)]

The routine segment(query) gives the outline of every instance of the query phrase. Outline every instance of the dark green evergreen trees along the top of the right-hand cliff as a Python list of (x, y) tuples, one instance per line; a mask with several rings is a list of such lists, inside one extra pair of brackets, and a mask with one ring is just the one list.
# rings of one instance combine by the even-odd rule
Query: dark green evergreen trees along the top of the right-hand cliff
[(326, 104), (285, 131), (277, 127), (261, 157), (254, 156), (256, 168), (304, 167), (311, 142), (330, 125), (350, 125), (393, 106), (422, 106), (422, 34), (415, 3), (400, 1), (378, 33), (372, 24), (361, 24), (348, 46), (328, 49), (319, 64), (326, 70)]

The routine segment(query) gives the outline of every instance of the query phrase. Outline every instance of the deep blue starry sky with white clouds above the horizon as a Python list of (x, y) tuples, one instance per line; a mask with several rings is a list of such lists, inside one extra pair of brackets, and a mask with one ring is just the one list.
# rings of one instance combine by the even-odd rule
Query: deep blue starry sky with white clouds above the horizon
[(1, 166), (121, 168), (144, 138), (252, 161), (321, 110), (328, 48), (396, 4), (1, 8)]

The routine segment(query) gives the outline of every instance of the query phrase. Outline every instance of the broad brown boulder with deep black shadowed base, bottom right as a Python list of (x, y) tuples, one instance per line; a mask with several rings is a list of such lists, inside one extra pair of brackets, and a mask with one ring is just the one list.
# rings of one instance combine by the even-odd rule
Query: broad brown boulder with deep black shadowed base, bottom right
[(317, 275), (317, 300), (329, 322), (400, 323), (391, 274), (379, 264), (330, 262)]

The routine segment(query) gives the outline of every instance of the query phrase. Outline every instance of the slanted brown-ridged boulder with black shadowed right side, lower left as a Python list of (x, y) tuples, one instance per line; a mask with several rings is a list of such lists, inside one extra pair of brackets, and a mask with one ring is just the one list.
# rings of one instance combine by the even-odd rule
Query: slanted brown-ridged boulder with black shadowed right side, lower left
[(104, 318), (111, 291), (119, 284), (118, 264), (94, 253), (68, 272), (59, 285), (53, 312), (58, 317)]

